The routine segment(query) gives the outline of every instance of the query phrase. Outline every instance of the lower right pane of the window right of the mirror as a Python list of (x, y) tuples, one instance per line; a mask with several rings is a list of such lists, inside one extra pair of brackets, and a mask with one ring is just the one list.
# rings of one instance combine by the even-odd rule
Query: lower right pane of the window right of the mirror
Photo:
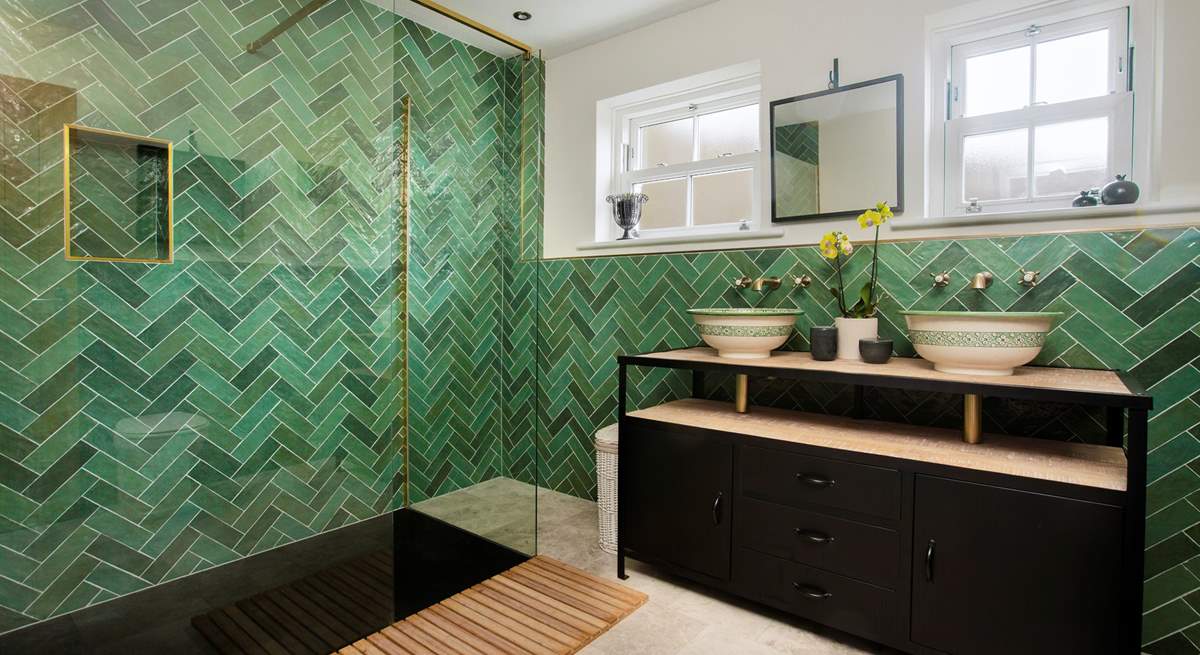
[(1033, 132), (1038, 196), (1075, 194), (1109, 178), (1109, 119), (1039, 125)]

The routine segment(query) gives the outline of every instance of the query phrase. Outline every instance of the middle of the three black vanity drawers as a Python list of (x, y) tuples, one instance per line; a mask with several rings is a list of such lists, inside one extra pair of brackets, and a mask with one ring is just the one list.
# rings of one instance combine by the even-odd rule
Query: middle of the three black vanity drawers
[(762, 500), (738, 501), (742, 546), (882, 587), (900, 569), (895, 530)]

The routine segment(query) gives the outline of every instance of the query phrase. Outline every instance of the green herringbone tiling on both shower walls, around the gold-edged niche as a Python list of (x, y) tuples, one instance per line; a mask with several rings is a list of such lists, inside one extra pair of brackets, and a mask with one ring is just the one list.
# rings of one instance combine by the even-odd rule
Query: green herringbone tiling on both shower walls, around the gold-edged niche
[[(365, 0), (246, 53), (305, 4), (0, 0), (0, 632), (402, 503), (406, 96), (413, 495), (505, 465), (536, 68)], [(173, 265), (64, 260), (65, 122), (175, 142)]]

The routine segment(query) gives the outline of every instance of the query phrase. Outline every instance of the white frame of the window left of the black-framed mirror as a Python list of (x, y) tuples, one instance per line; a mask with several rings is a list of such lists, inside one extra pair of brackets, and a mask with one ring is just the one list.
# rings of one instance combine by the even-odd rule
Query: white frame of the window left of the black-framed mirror
[[(713, 160), (691, 161), (686, 163), (638, 169), (641, 157), (641, 128), (672, 120), (695, 118), (692, 124), (692, 156), (695, 157), (700, 142), (700, 116), (737, 109), (739, 107), (758, 108), (758, 149), (754, 152), (718, 157)], [(688, 197), (684, 226), (671, 228), (641, 229), (642, 239), (707, 236), (714, 234), (737, 234), (754, 232), (762, 224), (762, 200), (760, 188), (762, 182), (762, 92), (757, 74), (742, 76), (721, 83), (706, 84), (652, 100), (614, 108), (612, 113), (612, 170), (610, 172), (610, 192), (629, 193), (635, 185), (661, 180), (686, 178)], [(740, 222), (696, 226), (694, 221), (692, 191), (694, 179), (700, 175), (750, 170), (750, 216), (743, 227)], [(650, 199), (653, 203), (654, 199)], [(611, 216), (602, 215), (602, 226), (598, 226), (598, 235), (616, 239), (620, 230), (613, 224)]]

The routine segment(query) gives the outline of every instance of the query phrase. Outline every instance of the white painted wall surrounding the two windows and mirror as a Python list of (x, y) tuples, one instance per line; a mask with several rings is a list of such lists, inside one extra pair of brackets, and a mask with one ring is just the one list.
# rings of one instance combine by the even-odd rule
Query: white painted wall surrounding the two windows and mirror
[[(1153, 114), (1157, 188), (1144, 190), (1164, 202), (1200, 200), (1200, 1), (1130, 0), (1157, 6), (1148, 23), (1159, 29), (1162, 64), (1154, 98), (1138, 98)], [(834, 58), (844, 83), (893, 73), (905, 76), (905, 204), (899, 218), (907, 229), (890, 238), (966, 236), (979, 233), (1058, 232), (1141, 224), (1200, 222), (1200, 214), (1170, 211), (1139, 216), (1056, 220), (1030, 223), (916, 228), (925, 206), (924, 146), (926, 104), (926, 17), (962, 17), (1028, 7), (1032, 0), (721, 0), (551, 59), (546, 66), (546, 234), (545, 256), (628, 253), (626, 248), (577, 246), (595, 233), (596, 102), (733, 64), (756, 61), (762, 71), (763, 143), (766, 102), (824, 88)], [(1140, 52), (1140, 58), (1152, 56)], [(763, 152), (762, 206), (769, 220), (769, 162)], [(838, 222), (839, 226), (844, 221)], [(703, 244), (696, 250), (815, 244), (830, 223), (780, 224), (774, 240)], [(889, 230), (892, 232), (892, 230)], [(643, 246), (640, 252), (671, 252), (679, 245)]]

